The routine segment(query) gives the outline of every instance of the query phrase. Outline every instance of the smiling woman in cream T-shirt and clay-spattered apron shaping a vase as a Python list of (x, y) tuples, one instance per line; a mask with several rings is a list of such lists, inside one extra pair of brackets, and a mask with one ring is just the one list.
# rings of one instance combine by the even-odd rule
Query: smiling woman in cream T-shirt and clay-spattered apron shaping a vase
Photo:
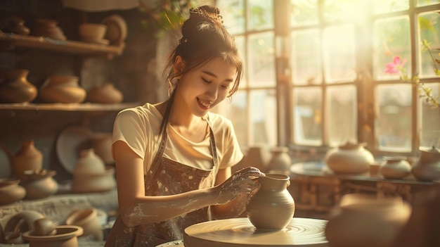
[(236, 217), (264, 176), (242, 159), (231, 121), (209, 113), (237, 91), (242, 61), (218, 8), (190, 10), (166, 71), (170, 97), (115, 119), (119, 215), (105, 246), (157, 246), (191, 224)]

